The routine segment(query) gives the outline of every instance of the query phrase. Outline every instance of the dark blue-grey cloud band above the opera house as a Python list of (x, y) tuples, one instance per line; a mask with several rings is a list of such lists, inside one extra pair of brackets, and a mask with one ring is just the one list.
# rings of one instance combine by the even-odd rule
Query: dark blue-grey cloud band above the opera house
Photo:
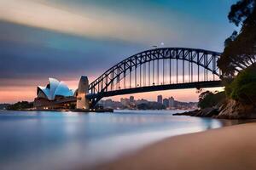
[[(97, 77), (143, 46), (113, 39), (93, 39), (0, 21), (0, 86), (7, 79)], [(69, 78), (68, 78), (69, 77)]]

